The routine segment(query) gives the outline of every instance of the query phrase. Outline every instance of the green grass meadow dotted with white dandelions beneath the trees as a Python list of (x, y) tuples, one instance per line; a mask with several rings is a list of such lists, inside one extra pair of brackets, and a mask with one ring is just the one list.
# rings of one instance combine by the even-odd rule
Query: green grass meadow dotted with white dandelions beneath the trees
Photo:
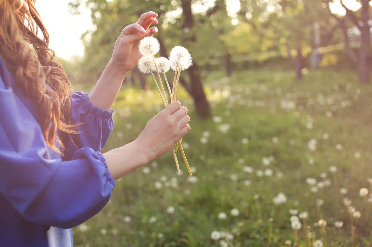
[[(183, 174), (177, 175), (168, 153), (117, 181), (109, 204), (85, 223), (89, 230), (74, 228), (76, 246), (286, 246), (286, 240), (294, 243), (290, 209), (308, 212), (306, 221), (315, 233), (312, 242), (370, 246), (372, 203), (360, 197), (359, 190), (365, 187), (371, 192), (367, 179), (372, 177), (372, 86), (357, 85), (350, 72), (312, 71), (301, 82), (293, 78), (292, 72), (280, 70), (238, 73), (231, 79), (209, 75), (205, 86), (214, 115), (210, 121), (201, 121), (180, 91), (179, 99), (192, 118), (192, 130), (183, 144), (194, 175), (187, 175), (180, 154)], [(134, 140), (160, 109), (155, 90), (123, 90), (104, 151)], [(244, 138), (249, 142), (243, 144)], [(308, 147), (311, 139), (317, 140), (314, 151)], [(329, 171), (331, 166), (337, 167), (336, 173)], [(253, 172), (246, 172), (247, 167)], [(270, 173), (267, 169), (272, 176), (257, 175), (257, 171)], [(327, 177), (321, 178), (324, 172)], [(330, 184), (313, 193), (306, 183), (309, 177)], [(160, 183), (162, 187), (156, 188)], [(361, 213), (353, 220), (355, 245), (340, 188), (347, 189), (345, 197)], [(273, 198), (279, 192), (287, 201), (275, 205)], [(319, 199), (323, 204), (317, 207)], [(174, 213), (168, 213), (169, 207)], [(234, 208), (239, 215), (231, 215)], [(221, 212), (226, 219), (219, 219)], [(314, 226), (320, 219), (327, 221), (327, 238)], [(339, 233), (336, 220), (343, 221)], [(225, 245), (222, 238), (212, 240), (212, 231), (233, 238)], [(308, 246), (304, 224), (298, 234), (299, 246)]]

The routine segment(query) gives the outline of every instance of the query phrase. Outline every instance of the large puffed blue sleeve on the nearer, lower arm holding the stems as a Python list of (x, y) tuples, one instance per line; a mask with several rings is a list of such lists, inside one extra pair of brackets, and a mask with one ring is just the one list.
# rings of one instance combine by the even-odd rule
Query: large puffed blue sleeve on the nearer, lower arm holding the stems
[(47, 150), (31, 112), (0, 78), (0, 193), (28, 221), (75, 227), (106, 205), (115, 181), (92, 148), (78, 149), (70, 161)]

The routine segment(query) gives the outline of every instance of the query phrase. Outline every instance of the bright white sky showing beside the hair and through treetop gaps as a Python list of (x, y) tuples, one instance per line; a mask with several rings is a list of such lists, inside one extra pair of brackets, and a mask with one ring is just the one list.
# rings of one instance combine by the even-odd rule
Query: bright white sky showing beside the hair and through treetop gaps
[[(37, 0), (35, 4), (49, 32), (49, 47), (56, 52), (57, 56), (67, 60), (74, 55), (83, 56), (84, 48), (80, 36), (86, 30), (93, 29), (89, 10), (81, 8), (80, 12), (82, 14), (73, 16), (68, 11), (69, 1)], [(334, 1), (336, 3), (331, 6), (332, 11), (344, 14), (344, 9), (339, 4), (340, 0)], [(206, 2), (207, 4), (204, 6), (196, 4), (193, 9), (202, 12), (214, 4), (214, 0), (207, 0)], [(353, 10), (360, 7), (360, 4), (355, 0), (344, 0), (344, 2), (347, 7)], [(240, 3), (238, 0), (227, 0), (227, 6), (229, 15), (234, 16), (234, 13), (239, 10)]]

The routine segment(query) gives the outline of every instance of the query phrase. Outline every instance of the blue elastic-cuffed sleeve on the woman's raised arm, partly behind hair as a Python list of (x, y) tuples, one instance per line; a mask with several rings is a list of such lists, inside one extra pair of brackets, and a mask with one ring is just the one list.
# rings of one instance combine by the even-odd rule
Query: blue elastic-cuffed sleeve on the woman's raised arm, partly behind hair
[(79, 148), (92, 148), (101, 151), (113, 129), (112, 109), (105, 111), (93, 106), (89, 101), (89, 94), (74, 92), (71, 94), (71, 120), (81, 123), (79, 134), (72, 134), (64, 139), (64, 160), (71, 159)]

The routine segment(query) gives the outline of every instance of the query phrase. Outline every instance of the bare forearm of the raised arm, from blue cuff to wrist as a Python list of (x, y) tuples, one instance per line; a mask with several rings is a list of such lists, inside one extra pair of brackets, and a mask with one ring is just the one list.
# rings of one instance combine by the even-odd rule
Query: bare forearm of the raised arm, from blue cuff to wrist
[(120, 69), (110, 61), (89, 96), (92, 105), (109, 111), (127, 73), (128, 71)]

